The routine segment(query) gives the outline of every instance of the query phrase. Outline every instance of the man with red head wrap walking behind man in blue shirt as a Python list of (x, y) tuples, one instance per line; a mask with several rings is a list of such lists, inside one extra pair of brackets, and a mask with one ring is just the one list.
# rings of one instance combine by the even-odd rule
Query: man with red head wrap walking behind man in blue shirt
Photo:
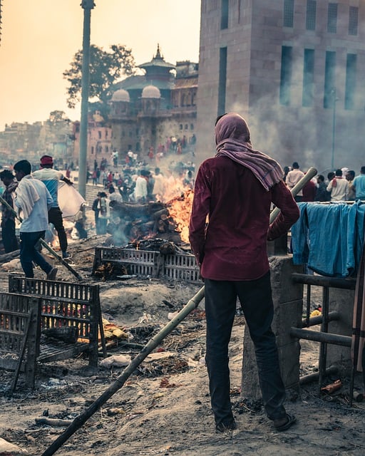
[(52, 223), (58, 234), (58, 240), (62, 251), (63, 258), (71, 258), (67, 252), (67, 236), (63, 227), (62, 212), (58, 205), (58, 182), (63, 180), (68, 185), (72, 185), (71, 180), (65, 177), (61, 171), (53, 170), (53, 158), (51, 155), (43, 155), (41, 157), (41, 169), (33, 172), (33, 176), (41, 180), (46, 185), (48, 192), (51, 193), (53, 204), (48, 211), (48, 222)]

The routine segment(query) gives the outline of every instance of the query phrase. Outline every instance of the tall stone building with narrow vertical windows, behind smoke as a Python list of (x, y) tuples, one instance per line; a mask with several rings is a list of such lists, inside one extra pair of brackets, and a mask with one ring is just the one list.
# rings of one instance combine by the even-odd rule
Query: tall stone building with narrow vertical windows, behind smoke
[(242, 114), (282, 165), (364, 165), (365, 2), (202, 0), (197, 162)]

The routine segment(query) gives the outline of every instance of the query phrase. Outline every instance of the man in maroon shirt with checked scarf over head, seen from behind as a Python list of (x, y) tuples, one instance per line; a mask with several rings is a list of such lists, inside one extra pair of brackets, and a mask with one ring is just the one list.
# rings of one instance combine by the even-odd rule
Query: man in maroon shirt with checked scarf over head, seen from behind
[[(282, 180), (280, 165), (252, 150), (250, 130), (236, 113), (218, 118), (217, 155), (202, 162), (195, 181), (190, 244), (205, 281), (210, 398), (217, 431), (236, 428), (230, 403), (228, 343), (237, 296), (255, 344), (262, 400), (276, 430), (295, 418), (283, 406), (273, 317), (267, 239), (275, 239), (299, 218)], [(269, 225), (271, 204), (281, 209)], [(209, 222), (207, 222), (207, 216)]]

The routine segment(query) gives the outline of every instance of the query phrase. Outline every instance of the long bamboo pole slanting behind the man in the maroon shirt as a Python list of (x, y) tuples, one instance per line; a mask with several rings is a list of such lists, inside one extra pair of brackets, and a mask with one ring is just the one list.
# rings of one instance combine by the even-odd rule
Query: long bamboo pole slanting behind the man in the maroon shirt
[[(317, 170), (315, 168), (309, 168), (307, 173), (302, 177), (301, 180), (295, 185), (291, 192), (292, 195), (295, 196), (297, 193), (302, 190), (302, 187), (317, 175)], [(277, 210), (276, 210), (277, 209)], [(270, 223), (274, 221), (274, 219), (277, 217), (279, 214), (279, 209), (276, 208), (272, 211), (270, 215)], [(274, 215), (273, 215), (274, 213)], [(54, 453), (58, 450), (61, 445), (63, 445), (64, 442), (68, 440), (71, 435), (73, 435), (76, 430), (80, 429), (81, 426), (83, 426), (88, 418), (90, 418), (96, 411), (98, 411), (101, 406), (106, 403), (108, 399), (111, 398), (112, 395), (114, 395), (120, 388), (125, 383), (125, 380), (127, 380), (130, 375), (135, 371), (135, 368), (137, 368), (140, 363), (148, 356), (151, 351), (153, 351), (158, 344), (163, 341), (163, 339), (168, 336), (168, 334), (173, 331), (173, 329), (178, 326), (178, 324), (184, 320), (184, 318), (187, 317), (187, 315), (190, 314), (194, 309), (197, 308), (199, 305), (200, 301), (205, 296), (205, 287), (202, 286), (202, 288), (197, 291), (197, 294), (190, 299), (190, 301), (187, 302), (187, 304), (183, 307), (183, 309), (178, 313), (175, 318), (173, 318), (170, 323), (168, 323), (166, 326), (164, 326), (148, 343), (147, 345), (144, 346), (144, 348), (140, 351), (140, 353), (131, 361), (128, 366), (125, 368), (125, 370), (116, 378), (114, 383), (109, 386), (108, 389), (104, 391), (104, 393), (99, 396), (98, 399), (96, 399), (89, 408), (85, 410), (85, 412), (81, 413), (81, 415), (78, 415), (71, 425), (67, 427), (67, 429), (52, 443), (50, 447), (46, 449), (45, 452), (42, 453), (41, 456), (52, 456)]]

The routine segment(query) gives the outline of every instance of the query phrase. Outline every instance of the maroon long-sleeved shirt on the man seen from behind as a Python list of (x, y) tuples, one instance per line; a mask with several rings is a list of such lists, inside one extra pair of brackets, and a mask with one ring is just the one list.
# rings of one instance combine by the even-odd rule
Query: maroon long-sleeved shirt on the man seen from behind
[[(269, 227), (272, 202), (281, 212)], [(269, 271), (267, 239), (287, 232), (298, 218), (297, 203), (284, 182), (267, 192), (248, 168), (230, 158), (205, 160), (197, 172), (189, 225), (202, 277), (259, 279)]]

